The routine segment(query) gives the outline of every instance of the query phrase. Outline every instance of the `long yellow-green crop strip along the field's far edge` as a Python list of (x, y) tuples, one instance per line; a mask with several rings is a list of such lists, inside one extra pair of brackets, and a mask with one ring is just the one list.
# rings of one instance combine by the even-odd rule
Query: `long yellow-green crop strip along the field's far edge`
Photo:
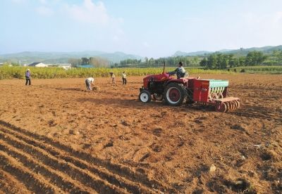
[[(120, 76), (123, 71), (128, 76), (144, 76), (155, 75), (163, 71), (162, 68), (72, 68), (63, 70), (60, 67), (29, 67), (32, 73), (32, 78), (35, 79), (50, 79), (50, 78), (75, 78), (75, 77), (109, 77), (109, 72), (114, 72), (116, 76)], [(166, 72), (172, 71), (175, 68), (166, 68)], [(0, 67), (0, 79), (25, 79), (25, 71), (27, 67)], [(221, 74), (233, 73), (224, 70), (202, 70), (188, 69), (189, 74)]]

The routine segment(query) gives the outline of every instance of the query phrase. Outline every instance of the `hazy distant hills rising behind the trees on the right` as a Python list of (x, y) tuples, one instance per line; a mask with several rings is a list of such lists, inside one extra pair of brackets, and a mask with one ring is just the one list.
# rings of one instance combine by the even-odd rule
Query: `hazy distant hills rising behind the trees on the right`
[[(220, 51), (216, 51), (219, 53), (231, 54), (233, 53), (235, 56), (247, 56), (247, 53), (250, 51), (262, 51), (264, 54), (272, 53), (275, 50), (282, 50), (282, 45), (279, 46), (263, 46), (263, 47), (252, 47), (252, 48), (240, 48), (240, 49), (222, 49)], [(191, 53), (185, 53), (182, 51), (176, 51), (173, 56), (203, 56), (204, 54), (214, 53), (211, 51), (197, 51)]]

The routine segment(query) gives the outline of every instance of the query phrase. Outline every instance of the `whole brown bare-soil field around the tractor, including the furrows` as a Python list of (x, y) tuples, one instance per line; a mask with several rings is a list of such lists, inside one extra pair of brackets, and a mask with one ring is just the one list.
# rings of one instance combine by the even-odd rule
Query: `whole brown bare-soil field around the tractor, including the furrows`
[(201, 77), (240, 109), (144, 104), (142, 77), (0, 81), (0, 193), (281, 193), (282, 76)]

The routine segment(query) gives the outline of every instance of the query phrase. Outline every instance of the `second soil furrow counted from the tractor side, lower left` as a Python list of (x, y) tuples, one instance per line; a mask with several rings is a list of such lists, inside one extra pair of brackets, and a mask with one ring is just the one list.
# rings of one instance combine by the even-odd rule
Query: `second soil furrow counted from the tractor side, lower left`
[(36, 147), (42, 148), (46, 150), (50, 155), (59, 157), (61, 160), (65, 160), (66, 162), (70, 162), (80, 169), (88, 169), (90, 172), (96, 174), (101, 179), (105, 179), (109, 183), (114, 184), (115, 186), (118, 186), (120, 188), (126, 188), (126, 190), (128, 190), (130, 193), (155, 193), (155, 190), (146, 188), (140, 183), (135, 183), (128, 179), (124, 179), (121, 176), (117, 176), (116, 174), (112, 174), (107, 169), (104, 169), (97, 165), (89, 164), (84, 160), (80, 160), (79, 158), (69, 155), (68, 153), (62, 153), (62, 151), (58, 150), (57, 148), (50, 147), (45, 143), (32, 139), (23, 134), (18, 134), (16, 131), (11, 131), (6, 128), (4, 129), (4, 127), (2, 127), (1, 130), (5, 131), (5, 133), (7, 134), (16, 136), (16, 138), (20, 139), (21, 141), (25, 141), (25, 143), (29, 143)]

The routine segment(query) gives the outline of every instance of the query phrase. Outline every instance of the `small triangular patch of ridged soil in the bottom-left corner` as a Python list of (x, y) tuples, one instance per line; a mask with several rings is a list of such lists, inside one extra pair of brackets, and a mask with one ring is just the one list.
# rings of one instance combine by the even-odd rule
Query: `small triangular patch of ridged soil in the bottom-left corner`
[(15, 177), (0, 169), (0, 190), (3, 193), (26, 193), (30, 194), (23, 183), (20, 183)]

